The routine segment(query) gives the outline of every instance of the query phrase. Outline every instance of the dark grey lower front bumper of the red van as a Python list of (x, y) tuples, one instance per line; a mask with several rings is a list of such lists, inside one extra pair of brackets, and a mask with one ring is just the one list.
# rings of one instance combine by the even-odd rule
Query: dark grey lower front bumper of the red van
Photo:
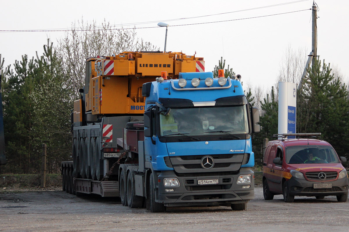
[[(319, 183), (332, 183), (331, 188), (314, 189), (314, 184)], [(336, 196), (348, 194), (348, 178), (337, 179), (336, 181), (327, 182), (314, 182), (307, 181), (305, 179), (297, 179), (291, 177), (287, 181), (290, 195), (292, 196), (306, 196), (306, 197), (318, 197), (318, 196)]]

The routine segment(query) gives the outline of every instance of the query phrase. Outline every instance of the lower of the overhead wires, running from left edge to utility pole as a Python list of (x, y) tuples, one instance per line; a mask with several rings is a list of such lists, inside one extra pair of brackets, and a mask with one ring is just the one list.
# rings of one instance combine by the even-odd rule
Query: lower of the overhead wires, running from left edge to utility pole
[[(303, 0), (304, 1), (304, 0)], [(304, 9), (304, 10), (296, 10), (296, 11), (290, 11), (285, 13), (279, 13), (279, 14), (272, 14), (272, 15), (263, 15), (263, 16), (255, 16), (255, 17), (249, 17), (249, 18), (239, 18), (239, 19), (230, 19), (230, 20), (222, 20), (222, 21), (214, 21), (214, 22), (206, 22), (206, 23), (191, 23), (191, 24), (180, 24), (180, 25), (170, 25), (170, 26), (189, 26), (189, 25), (199, 25), (199, 24), (208, 24), (208, 23), (222, 23), (222, 22), (230, 22), (230, 21), (238, 21), (238, 20), (244, 20), (244, 19), (252, 19), (252, 18), (262, 18), (262, 17), (269, 17), (269, 16), (276, 16), (276, 15), (284, 15), (284, 14), (290, 14), (290, 13), (296, 13), (300, 11), (305, 10), (311, 10), (311, 9)], [(158, 22), (158, 21), (156, 21)], [(150, 27), (133, 27), (133, 29), (148, 29), (148, 28), (158, 28), (158, 26), (150, 26)], [(57, 31), (99, 31), (101, 29), (79, 29), (79, 30), (72, 30), (72, 29), (64, 29), (64, 30), (0, 30), (0, 32), (57, 32)], [(130, 28), (124, 29), (124, 28), (114, 28), (110, 30), (131, 30)]]

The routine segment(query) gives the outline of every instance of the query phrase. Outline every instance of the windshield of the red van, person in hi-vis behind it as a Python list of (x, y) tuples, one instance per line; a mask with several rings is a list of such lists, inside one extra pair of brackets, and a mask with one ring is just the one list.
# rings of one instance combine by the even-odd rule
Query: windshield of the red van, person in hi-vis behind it
[(289, 146), (286, 147), (287, 163), (339, 163), (331, 146)]

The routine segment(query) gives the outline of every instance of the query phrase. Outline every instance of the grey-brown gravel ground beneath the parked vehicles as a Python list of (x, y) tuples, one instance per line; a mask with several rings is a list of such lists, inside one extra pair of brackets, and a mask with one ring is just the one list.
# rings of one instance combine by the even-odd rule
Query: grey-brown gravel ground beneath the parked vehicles
[(265, 201), (262, 187), (247, 210), (176, 207), (149, 213), (121, 205), (119, 198), (82, 197), (54, 190), (0, 193), (0, 231), (348, 231), (349, 202), (336, 197), (282, 195)]

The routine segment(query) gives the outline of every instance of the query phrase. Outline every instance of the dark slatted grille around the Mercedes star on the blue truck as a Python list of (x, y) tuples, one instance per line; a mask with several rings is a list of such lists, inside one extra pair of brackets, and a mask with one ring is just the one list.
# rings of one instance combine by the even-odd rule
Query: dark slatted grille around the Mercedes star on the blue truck
[[(210, 156), (214, 160), (212, 168), (204, 169), (201, 160), (205, 156)], [(242, 164), (248, 162), (249, 154), (215, 154), (215, 155), (180, 155), (170, 156), (171, 164), (177, 173), (205, 173), (238, 171)]]

